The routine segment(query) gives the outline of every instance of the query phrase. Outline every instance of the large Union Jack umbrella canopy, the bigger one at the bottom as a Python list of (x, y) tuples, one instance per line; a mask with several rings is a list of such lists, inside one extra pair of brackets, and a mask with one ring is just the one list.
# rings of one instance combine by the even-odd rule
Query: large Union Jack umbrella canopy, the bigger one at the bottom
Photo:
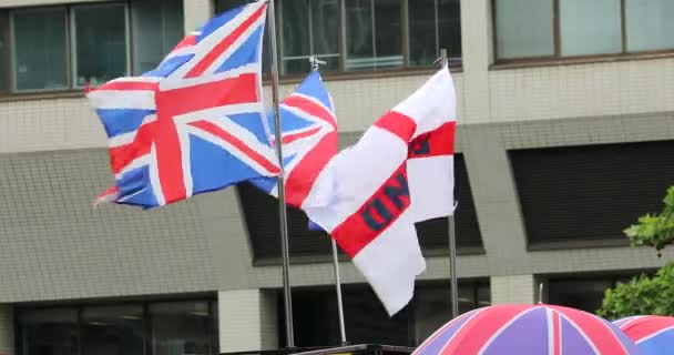
[(412, 355), (641, 355), (617, 326), (590, 313), (553, 306), (496, 305), (440, 327)]

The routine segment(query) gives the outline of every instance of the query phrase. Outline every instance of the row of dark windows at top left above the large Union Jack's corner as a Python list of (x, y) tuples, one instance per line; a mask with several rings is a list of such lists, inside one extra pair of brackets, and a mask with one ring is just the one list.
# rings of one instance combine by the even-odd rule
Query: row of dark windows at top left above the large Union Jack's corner
[(81, 89), (150, 71), (184, 37), (182, 6), (125, 0), (0, 12), (0, 91)]

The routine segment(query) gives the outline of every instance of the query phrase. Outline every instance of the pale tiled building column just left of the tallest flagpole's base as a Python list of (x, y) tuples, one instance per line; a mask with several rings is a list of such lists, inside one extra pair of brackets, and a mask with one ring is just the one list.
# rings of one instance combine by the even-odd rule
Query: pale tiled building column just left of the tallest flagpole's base
[(278, 347), (277, 297), (274, 290), (217, 293), (219, 352)]

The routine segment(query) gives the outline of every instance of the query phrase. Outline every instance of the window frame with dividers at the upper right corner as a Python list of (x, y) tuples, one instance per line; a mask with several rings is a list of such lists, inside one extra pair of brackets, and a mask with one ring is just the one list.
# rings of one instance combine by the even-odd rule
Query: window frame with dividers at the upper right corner
[(498, 43), (498, 29), (497, 29), (497, 2), (503, 0), (491, 0), (491, 28), (492, 28), (492, 47), (493, 47), (493, 61), (496, 64), (511, 64), (511, 63), (537, 63), (537, 62), (550, 62), (550, 61), (564, 61), (572, 62), (578, 60), (602, 60), (612, 58), (634, 58), (642, 55), (653, 54), (674, 54), (674, 47), (671, 49), (658, 49), (658, 50), (645, 50), (645, 51), (629, 51), (627, 50), (627, 28), (626, 28), (626, 7), (627, 0), (620, 1), (620, 13), (621, 13), (621, 52), (620, 53), (600, 53), (600, 54), (581, 54), (581, 55), (562, 55), (561, 54), (561, 22), (560, 22), (560, 1), (564, 0), (549, 0), (552, 1), (552, 38), (554, 53), (552, 55), (532, 55), (532, 57), (513, 57), (513, 58), (499, 58), (499, 43)]

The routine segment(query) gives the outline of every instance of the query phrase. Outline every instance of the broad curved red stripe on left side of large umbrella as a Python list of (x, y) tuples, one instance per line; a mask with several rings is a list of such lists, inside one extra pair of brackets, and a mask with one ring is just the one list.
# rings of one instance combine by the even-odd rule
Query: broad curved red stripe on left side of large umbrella
[(477, 314), (455, 334), (449, 346), (442, 349), (442, 354), (480, 354), (480, 349), (500, 328), (530, 310), (530, 305), (512, 304)]

